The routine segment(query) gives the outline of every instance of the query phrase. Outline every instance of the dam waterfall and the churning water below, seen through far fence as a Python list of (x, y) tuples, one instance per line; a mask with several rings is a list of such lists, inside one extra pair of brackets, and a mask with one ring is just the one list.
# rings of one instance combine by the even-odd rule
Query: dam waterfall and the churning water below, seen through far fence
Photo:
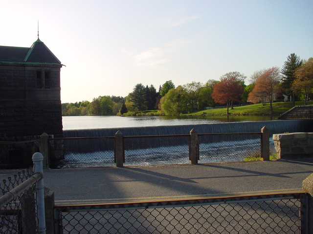
[[(114, 141), (112, 138), (71, 137), (114, 137), (120, 131), (124, 138), (126, 165), (181, 164), (188, 163), (188, 138), (131, 137), (156, 135), (188, 135), (192, 129), (198, 134), (260, 133), (266, 126), (270, 137), (279, 133), (313, 132), (312, 120), (271, 120), (249, 122), (227, 122), (208, 124), (186, 124), (171, 126), (126, 127), (107, 129), (64, 130), (65, 160), (56, 167), (85, 167), (114, 165)], [(200, 137), (201, 162), (241, 161), (245, 154), (259, 154), (258, 134), (206, 135)], [(133, 164), (132, 164), (133, 163)], [(137, 163), (137, 164), (136, 164)]]

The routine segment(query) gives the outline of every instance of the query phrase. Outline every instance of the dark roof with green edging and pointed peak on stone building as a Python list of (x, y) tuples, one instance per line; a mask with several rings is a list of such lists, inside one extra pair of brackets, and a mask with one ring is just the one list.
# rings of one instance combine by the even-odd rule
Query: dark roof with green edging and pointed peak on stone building
[(61, 64), (40, 39), (30, 48), (0, 46), (0, 62)]

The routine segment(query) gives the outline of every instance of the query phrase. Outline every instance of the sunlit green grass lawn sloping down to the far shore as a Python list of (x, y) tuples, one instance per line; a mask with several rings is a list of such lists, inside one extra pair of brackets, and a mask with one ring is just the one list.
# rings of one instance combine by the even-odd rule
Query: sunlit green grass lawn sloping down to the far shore
[[(313, 101), (309, 101), (309, 105), (313, 105)], [(274, 102), (273, 105), (273, 115), (279, 116), (293, 107), (292, 102)], [(296, 106), (304, 105), (303, 101), (296, 101)], [(229, 108), (229, 114), (232, 116), (264, 116), (269, 115), (269, 104), (265, 106), (262, 104), (252, 104), (246, 106), (234, 107), (233, 110)], [(215, 108), (210, 110), (202, 110), (192, 113), (194, 116), (208, 115), (208, 116), (224, 116), (226, 115), (226, 108)]]

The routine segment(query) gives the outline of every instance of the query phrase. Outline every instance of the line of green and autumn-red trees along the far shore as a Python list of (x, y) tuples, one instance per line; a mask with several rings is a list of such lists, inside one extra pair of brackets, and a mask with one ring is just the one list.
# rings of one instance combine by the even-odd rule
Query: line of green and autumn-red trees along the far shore
[(313, 90), (313, 58), (300, 59), (294, 53), (287, 57), (282, 69), (271, 67), (255, 71), (245, 84), (246, 76), (240, 72), (224, 74), (220, 80), (206, 83), (193, 81), (175, 86), (172, 80), (160, 85), (138, 83), (127, 97), (99, 96), (91, 102), (62, 103), (64, 116), (78, 115), (127, 115), (130, 112), (158, 110), (160, 115), (177, 116), (203, 110), (205, 107), (238, 103), (269, 103), (302, 99), (307, 104)]

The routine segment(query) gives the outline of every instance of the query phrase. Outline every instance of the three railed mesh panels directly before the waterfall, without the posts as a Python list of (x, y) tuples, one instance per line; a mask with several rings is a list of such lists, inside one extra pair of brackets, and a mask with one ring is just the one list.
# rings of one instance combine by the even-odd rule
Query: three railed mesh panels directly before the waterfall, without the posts
[[(65, 159), (53, 167), (188, 164), (192, 160), (191, 135), (49, 138), (64, 142)], [(262, 133), (197, 135), (197, 162), (243, 161), (262, 157)], [(120, 148), (121, 152), (117, 152)]]

